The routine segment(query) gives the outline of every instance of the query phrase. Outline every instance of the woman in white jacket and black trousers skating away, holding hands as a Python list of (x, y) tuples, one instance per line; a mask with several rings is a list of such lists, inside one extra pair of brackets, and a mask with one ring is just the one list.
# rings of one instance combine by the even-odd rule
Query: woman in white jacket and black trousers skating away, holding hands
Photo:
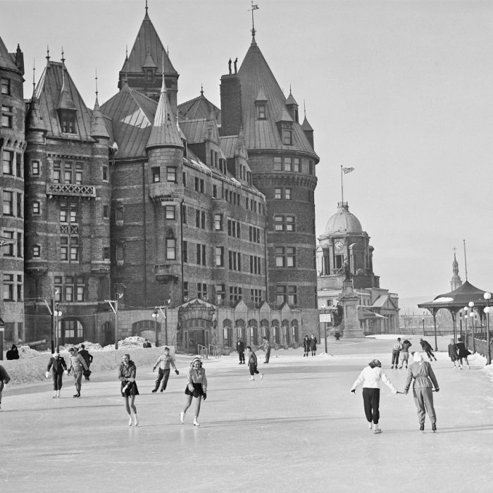
[(368, 420), (370, 430), (375, 425), (375, 433), (382, 432), (378, 424), (378, 420), (380, 419), (380, 411), (378, 409), (380, 404), (380, 382), (384, 382), (392, 391), (392, 394), (397, 394), (397, 389), (389, 380), (389, 377), (382, 371), (381, 366), (382, 363), (377, 359), (370, 361), (368, 366), (359, 374), (359, 377), (356, 378), (353, 387), (351, 387), (351, 392), (356, 393), (356, 388), (362, 385), (366, 420)]

